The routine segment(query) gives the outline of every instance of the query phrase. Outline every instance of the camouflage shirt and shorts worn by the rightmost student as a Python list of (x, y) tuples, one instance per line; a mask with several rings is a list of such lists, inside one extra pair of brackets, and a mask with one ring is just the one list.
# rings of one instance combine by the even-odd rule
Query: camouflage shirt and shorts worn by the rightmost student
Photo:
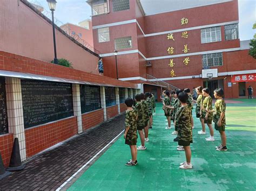
[(225, 113), (225, 111), (226, 111), (225, 101), (223, 99), (216, 100), (215, 105), (214, 105), (214, 110), (215, 111), (214, 111), (213, 121), (215, 123), (215, 129), (218, 131), (225, 131), (225, 125), (226, 125), (225, 115), (224, 115), (223, 119), (221, 120), (221, 125), (220, 126), (217, 125), (221, 112)]

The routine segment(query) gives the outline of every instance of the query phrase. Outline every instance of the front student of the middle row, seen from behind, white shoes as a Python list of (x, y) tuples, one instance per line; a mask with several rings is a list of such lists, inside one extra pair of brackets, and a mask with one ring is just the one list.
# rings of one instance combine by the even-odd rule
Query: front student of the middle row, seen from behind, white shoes
[[(175, 125), (178, 127), (178, 144), (184, 147), (186, 161), (180, 163), (181, 169), (192, 168), (190, 143), (192, 139), (191, 108), (187, 105), (188, 95), (184, 91), (178, 94), (181, 107), (176, 113)], [(177, 149), (178, 150), (178, 149)]]

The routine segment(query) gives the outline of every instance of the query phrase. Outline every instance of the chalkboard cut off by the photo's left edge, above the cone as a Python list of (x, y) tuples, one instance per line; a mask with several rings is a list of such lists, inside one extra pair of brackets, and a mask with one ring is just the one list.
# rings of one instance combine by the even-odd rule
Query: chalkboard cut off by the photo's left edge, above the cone
[(0, 135), (8, 133), (4, 77), (0, 77)]

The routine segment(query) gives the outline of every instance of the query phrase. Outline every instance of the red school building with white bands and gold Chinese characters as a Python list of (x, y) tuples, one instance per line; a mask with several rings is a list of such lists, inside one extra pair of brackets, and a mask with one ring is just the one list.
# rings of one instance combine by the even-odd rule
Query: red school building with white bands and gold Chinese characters
[[(93, 44), (104, 74), (142, 84), (144, 91), (223, 88), (225, 98), (256, 88), (250, 41), (239, 40), (238, 0), (89, 0)], [(240, 80), (239, 80), (240, 79)], [(172, 86), (170, 86), (172, 85)]]

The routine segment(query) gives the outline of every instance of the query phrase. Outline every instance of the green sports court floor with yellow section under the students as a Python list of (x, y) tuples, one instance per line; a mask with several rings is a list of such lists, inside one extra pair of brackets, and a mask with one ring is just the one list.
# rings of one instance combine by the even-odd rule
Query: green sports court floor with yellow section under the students
[[(129, 146), (120, 137), (69, 190), (256, 190), (256, 100), (227, 104), (227, 152), (215, 151), (215, 142), (197, 135), (199, 120), (194, 118), (193, 169), (179, 169), (184, 151), (176, 151), (172, 130), (165, 130), (165, 116), (157, 105), (150, 142), (138, 151), (138, 165), (127, 167)], [(194, 115), (194, 114), (193, 114)], [(172, 124), (173, 125), (173, 124)], [(138, 139), (139, 140), (139, 139)]]

